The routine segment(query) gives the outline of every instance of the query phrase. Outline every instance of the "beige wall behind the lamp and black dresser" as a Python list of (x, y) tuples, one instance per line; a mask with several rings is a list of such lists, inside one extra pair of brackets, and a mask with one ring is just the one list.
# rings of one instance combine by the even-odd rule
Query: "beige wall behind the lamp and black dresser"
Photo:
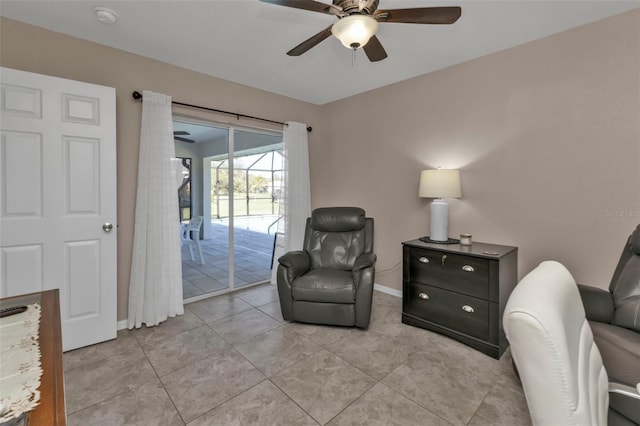
[(314, 204), (375, 218), (377, 283), (401, 288), (400, 243), (428, 233), (426, 168), (461, 170), (450, 236), (518, 246), (521, 277), (556, 259), (606, 287), (640, 223), (640, 11), (323, 112), (331, 133), (312, 160)]

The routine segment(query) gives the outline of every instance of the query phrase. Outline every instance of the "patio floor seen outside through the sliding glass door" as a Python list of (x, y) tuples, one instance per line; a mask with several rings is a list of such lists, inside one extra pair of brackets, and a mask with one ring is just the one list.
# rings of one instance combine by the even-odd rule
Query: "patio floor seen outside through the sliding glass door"
[[(204, 264), (198, 250), (189, 241), (182, 245), (182, 293), (184, 299), (229, 287), (229, 228), (220, 223), (211, 224), (211, 238), (201, 240)], [(234, 285), (240, 288), (271, 279), (271, 253), (273, 235), (242, 227), (234, 228)]]

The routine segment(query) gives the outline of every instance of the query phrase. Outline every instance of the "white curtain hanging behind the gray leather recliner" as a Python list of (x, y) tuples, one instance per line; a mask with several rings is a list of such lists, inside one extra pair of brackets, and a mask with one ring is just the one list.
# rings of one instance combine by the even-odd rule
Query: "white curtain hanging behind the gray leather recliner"
[(278, 237), (273, 255), (271, 282), (275, 284), (278, 258), (292, 250), (302, 249), (304, 226), (311, 215), (311, 184), (309, 179), (309, 141), (307, 125), (289, 121), (283, 135), (284, 179)]

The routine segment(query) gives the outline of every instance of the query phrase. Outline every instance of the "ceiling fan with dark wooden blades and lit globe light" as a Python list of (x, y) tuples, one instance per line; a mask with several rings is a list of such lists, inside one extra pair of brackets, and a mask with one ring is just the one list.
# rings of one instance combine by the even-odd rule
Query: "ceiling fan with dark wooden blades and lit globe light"
[(380, 10), (378, 9), (379, 0), (333, 0), (332, 4), (314, 0), (261, 1), (325, 13), (338, 18), (335, 24), (303, 41), (288, 51), (287, 55), (300, 56), (333, 34), (345, 47), (354, 51), (362, 47), (372, 62), (381, 61), (387, 57), (387, 52), (375, 35), (379, 22), (453, 24), (462, 14), (462, 9), (458, 6)]

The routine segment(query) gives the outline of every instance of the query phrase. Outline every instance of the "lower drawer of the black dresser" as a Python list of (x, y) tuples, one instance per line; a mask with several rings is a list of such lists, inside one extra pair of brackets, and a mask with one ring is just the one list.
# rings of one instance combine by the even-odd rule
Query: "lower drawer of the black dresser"
[(469, 336), (490, 340), (491, 302), (422, 284), (411, 283), (404, 312)]

